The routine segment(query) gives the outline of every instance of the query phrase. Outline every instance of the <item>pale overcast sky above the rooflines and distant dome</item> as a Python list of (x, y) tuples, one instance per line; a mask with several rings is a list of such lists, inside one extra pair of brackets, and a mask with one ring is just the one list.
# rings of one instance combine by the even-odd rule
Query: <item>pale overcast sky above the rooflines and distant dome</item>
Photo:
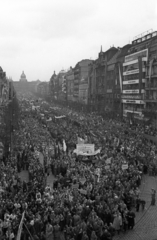
[(5, 0), (0, 66), (13, 81), (49, 81), (54, 71), (95, 60), (102, 45), (122, 47), (157, 30), (156, 0)]

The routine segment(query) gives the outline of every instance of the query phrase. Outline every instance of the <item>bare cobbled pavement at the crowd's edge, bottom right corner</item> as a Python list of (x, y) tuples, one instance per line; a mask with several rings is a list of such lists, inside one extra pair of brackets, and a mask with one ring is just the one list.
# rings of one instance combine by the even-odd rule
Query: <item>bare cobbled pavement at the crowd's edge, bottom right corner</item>
[(157, 191), (157, 177), (145, 175), (140, 187), (140, 198), (146, 201), (146, 209), (136, 214), (135, 227), (115, 236), (114, 240), (157, 240), (157, 206), (151, 206), (151, 188)]

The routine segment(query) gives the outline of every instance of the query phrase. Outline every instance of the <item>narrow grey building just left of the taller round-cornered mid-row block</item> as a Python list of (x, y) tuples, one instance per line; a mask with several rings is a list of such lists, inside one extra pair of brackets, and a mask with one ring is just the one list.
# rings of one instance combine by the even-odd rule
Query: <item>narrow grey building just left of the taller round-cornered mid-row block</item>
[(72, 67), (66, 73), (66, 87), (67, 87), (67, 100), (73, 101), (73, 92), (74, 92), (74, 71)]

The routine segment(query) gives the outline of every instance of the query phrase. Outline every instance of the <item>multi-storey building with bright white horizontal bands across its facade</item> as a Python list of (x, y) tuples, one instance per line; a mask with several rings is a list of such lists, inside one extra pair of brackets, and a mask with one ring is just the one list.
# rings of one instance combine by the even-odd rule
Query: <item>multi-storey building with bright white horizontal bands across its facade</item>
[(122, 104), (123, 116), (143, 120), (145, 108), (146, 65), (150, 34), (138, 36), (132, 42), (123, 63)]

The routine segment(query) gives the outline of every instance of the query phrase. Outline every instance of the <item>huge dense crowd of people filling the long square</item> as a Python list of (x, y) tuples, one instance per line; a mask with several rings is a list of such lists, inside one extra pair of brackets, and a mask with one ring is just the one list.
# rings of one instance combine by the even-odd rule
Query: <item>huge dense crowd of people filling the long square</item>
[[(20, 100), (14, 154), (0, 165), (0, 239), (111, 240), (131, 231), (145, 210), (143, 174), (157, 173), (156, 146), (125, 123), (32, 99)], [(76, 154), (80, 142), (96, 153)]]

